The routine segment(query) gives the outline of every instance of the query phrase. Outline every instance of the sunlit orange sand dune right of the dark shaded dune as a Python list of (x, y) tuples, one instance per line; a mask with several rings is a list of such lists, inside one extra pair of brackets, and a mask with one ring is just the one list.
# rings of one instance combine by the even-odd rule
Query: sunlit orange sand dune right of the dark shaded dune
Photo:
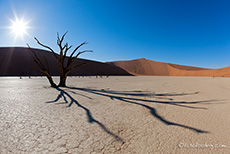
[(133, 75), (230, 77), (230, 66), (220, 69), (206, 69), (156, 62), (144, 58), (131, 61), (114, 61), (109, 62), (109, 64), (120, 67)]

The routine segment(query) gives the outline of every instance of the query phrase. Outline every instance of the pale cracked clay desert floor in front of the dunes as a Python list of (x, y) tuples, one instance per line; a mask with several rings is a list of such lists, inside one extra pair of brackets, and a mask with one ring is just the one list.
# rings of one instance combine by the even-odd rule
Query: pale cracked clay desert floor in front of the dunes
[[(58, 78), (55, 78), (58, 80)], [(0, 153), (229, 153), (230, 78), (0, 78)]]

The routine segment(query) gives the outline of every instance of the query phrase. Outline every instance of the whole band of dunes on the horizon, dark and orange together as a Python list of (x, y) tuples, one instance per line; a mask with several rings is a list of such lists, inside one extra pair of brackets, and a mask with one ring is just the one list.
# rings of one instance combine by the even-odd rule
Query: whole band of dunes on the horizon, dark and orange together
[[(41, 60), (49, 62), (52, 75), (59, 75), (57, 60), (46, 50), (34, 49)], [(44, 62), (44, 61), (43, 61)], [(156, 62), (147, 59), (131, 61), (114, 61), (101, 63), (78, 59), (76, 63), (89, 62), (76, 68), (69, 75), (155, 75), (155, 76), (215, 76), (230, 77), (230, 66), (221, 69), (205, 69), (170, 63)], [(33, 54), (28, 48), (0, 48), (0, 76), (42, 75), (33, 66)]]

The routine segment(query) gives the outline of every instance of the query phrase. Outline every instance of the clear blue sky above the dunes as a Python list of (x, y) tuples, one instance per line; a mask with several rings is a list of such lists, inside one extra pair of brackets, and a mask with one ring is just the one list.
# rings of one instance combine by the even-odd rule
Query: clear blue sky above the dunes
[[(29, 21), (29, 36), (14, 38), (14, 16)], [(230, 1), (224, 0), (0, 0), (0, 46), (35, 48), (36, 36), (58, 50), (87, 41), (81, 58), (97, 61), (146, 58), (220, 68), (230, 65)]]

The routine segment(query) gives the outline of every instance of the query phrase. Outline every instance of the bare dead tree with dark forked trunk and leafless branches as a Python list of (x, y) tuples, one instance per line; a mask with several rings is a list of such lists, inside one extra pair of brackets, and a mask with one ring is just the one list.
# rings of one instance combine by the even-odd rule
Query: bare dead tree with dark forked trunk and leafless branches
[(67, 32), (60, 38), (59, 37), (59, 34), (57, 33), (57, 45), (60, 49), (60, 52), (59, 52), (59, 55), (56, 54), (54, 52), (54, 50), (52, 48), (50, 48), (49, 46), (47, 45), (44, 45), (42, 44), (36, 37), (34, 37), (34, 39), (37, 41), (37, 43), (39, 45), (41, 45), (42, 47), (48, 49), (49, 51), (51, 51), (54, 55), (54, 57), (57, 59), (58, 61), (58, 65), (59, 65), (59, 70), (60, 70), (60, 81), (59, 81), (59, 84), (56, 85), (52, 79), (52, 76), (50, 74), (50, 68), (49, 68), (49, 65), (48, 65), (48, 61), (44, 58), (44, 62), (45, 62), (45, 65), (44, 65), (44, 62), (41, 61), (41, 59), (37, 56), (37, 54), (33, 51), (32, 48), (30, 48), (30, 46), (28, 45), (28, 47), (31, 49), (31, 51), (33, 52), (34, 54), (34, 61), (35, 63), (37, 64), (37, 66), (34, 66), (37, 70), (39, 70), (40, 72), (42, 72), (49, 80), (50, 82), (50, 85), (51, 87), (66, 87), (66, 79), (67, 79), (67, 76), (68, 74), (74, 70), (76, 67), (80, 67), (82, 65), (85, 65), (85, 63), (81, 63), (81, 64), (73, 64), (73, 62), (75, 60), (77, 60), (78, 56), (85, 53), (85, 52), (93, 52), (91, 50), (84, 50), (84, 51), (81, 51), (81, 52), (78, 52), (76, 55), (76, 51), (83, 45), (87, 44), (87, 42), (83, 42), (81, 43), (80, 45), (78, 45), (70, 54), (69, 57), (67, 57), (67, 52), (69, 51), (69, 49), (71, 49), (73, 46), (69, 46), (68, 43), (66, 44), (62, 44), (63, 43), (63, 40), (65, 38), (65, 35), (67, 34)]

